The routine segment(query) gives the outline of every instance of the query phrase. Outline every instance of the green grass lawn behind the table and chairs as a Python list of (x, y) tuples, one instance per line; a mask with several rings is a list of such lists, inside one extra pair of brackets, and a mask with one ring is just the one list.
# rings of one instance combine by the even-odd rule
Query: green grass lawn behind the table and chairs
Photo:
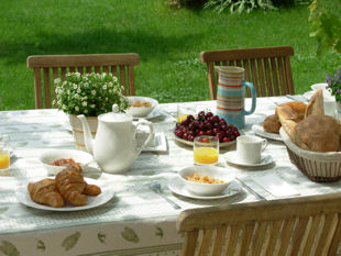
[(0, 110), (34, 109), (30, 55), (139, 53), (136, 94), (160, 102), (209, 99), (201, 51), (292, 45), (298, 93), (341, 64), (331, 52), (316, 57), (307, 5), (241, 15), (174, 10), (164, 0), (0, 0)]

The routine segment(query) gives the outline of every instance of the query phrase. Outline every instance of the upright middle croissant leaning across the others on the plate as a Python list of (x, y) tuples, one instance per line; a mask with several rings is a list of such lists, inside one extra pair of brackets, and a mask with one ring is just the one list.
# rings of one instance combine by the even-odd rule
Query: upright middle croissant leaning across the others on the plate
[(69, 165), (55, 177), (56, 186), (62, 196), (75, 207), (87, 204), (88, 198), (82, 194), (86, 181), (78, 168)]

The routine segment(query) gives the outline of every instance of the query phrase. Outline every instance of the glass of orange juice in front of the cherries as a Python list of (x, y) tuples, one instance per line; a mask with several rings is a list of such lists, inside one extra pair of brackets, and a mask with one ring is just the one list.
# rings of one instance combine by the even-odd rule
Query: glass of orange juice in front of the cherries
[(196, 165), (217, 165), (219, 140), (215, 136), (197, 136), (194, 141), (194, 162)]

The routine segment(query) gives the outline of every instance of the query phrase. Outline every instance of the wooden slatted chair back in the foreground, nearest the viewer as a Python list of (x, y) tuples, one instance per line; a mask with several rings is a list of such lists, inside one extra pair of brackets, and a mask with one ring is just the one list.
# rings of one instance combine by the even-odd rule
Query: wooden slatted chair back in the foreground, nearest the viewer
[[(341, 192), (185, 210), (183, 256), (334, 256)], [(312, 253), (312, 254), (310, 254)]]

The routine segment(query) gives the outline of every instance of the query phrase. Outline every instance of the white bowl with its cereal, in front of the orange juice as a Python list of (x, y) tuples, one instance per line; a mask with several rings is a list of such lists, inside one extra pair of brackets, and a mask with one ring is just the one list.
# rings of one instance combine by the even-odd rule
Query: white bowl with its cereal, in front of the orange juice
[(233, 180), (226, 168), (217, 166), (193, 166), (179, 171), (185, 188), (199, 196), (220, 194)]

